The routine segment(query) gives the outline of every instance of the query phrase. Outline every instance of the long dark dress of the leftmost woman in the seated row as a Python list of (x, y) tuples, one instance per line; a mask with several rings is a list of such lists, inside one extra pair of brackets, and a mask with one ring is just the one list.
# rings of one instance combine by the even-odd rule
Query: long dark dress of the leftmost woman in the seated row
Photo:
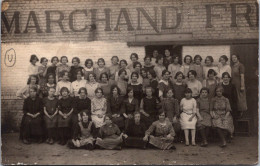
[[(42, 136), (43, 135), (43, 103), (39, 97), (36, 97), (35, 100), (32, 100), (31, 97), (28, 97), (24, 100), (23, 104), (23, 118), (20, 128), (20, 139), (28, 139), (32, 136)], [(36, 118), (32, 118), (27, 115), (40, 113)]]

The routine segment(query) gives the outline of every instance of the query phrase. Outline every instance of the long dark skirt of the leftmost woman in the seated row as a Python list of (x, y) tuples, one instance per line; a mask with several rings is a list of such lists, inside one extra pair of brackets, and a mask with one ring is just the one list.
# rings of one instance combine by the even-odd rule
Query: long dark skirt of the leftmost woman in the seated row
[(30, 138), (31, 136), (43, 135), (43, 120), (39, 115), (36, 118), (32, 118), (28, 115), (24, 115), (22, 118), (20, 128), (20, 139)]

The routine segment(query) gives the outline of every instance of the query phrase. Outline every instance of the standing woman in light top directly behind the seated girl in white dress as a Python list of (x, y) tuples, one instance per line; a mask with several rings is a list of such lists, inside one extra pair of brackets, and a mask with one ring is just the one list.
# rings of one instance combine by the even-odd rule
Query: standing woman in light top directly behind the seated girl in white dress
[(188, 72), (188, 78), (189, 78), (189, 80), (188, 80), (188, 82), (187, 82), (187, 86), (188, 86), (188, 88), (191, 89), (191, 91), (192, 91), (192, 97), (195, 98), (195, 99), (199, 98), (200, 90), (201, 90), (201, 88), (202, 88), (202, 84), (201, 84), (200, 81), (198, 81), (198, 80), (196, 79), (196, 76), (197, 76), (196, 71), (190, 70), (190, 71)]

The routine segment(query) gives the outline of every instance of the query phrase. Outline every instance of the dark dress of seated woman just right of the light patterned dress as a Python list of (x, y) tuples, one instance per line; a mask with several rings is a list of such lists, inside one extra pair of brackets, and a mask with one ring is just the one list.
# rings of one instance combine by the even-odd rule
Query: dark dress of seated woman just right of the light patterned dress
[(120, 129), (124, 129), (125, 127), (125, 119), (123, 116), (124, 113), (124, 98), (122, 96), (118, 96), (117, 98), (110, 96), (107, 100), (107, 113), (111, 116), (114, 114), (118, 114), (119, 117), (112, 117), (111, 120), (115, 123)]

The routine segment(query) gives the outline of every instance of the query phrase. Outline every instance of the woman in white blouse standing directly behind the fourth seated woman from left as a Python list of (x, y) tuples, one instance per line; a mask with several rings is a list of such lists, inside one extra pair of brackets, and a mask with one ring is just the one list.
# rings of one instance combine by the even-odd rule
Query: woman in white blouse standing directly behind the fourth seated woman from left
[(76, 76), (77, 76), (77, 80), (75, 80), (74, 82), (72, 82), (71, 87), (72, 87), (72, 96), (76, 97), (79, 96), (79, 89), (82, 87), (86, 87), (86, 80), (83, 80), (83, 72), (82, 69), (78, 69), (76, 70)]

